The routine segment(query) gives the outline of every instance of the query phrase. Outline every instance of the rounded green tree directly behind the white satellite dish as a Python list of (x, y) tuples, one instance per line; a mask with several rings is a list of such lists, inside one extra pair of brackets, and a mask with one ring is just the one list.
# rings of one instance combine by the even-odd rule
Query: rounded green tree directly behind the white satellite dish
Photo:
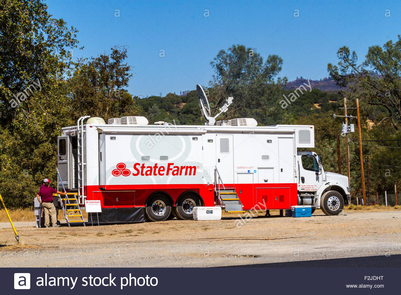
[(211, 61), (215, 70), (210, 81), (212, 115), (217, 114), (228, 96), (234, 96), (234, 102), (224, 117), (246, 115), (249, 109), (265, 108), (266, 100), (280, 92), (287, 82), (285, 77), (275, 80), (282, 64), (283, 60), (277, 55), (269, 55), (263, 62), (260, 53), (244, 45), (219, 51)]

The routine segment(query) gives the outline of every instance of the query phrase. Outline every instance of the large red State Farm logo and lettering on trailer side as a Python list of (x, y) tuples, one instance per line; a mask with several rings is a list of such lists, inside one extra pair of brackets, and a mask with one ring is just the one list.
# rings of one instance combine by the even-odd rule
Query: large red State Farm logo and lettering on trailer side
[[(199, 166), (178, 166), (174, 165), (174, 163), (166, 163), (166, 166), (159, 166), (158, 163), (155, 163), (153, 166), (145, 166), (145, 163), (135, 163), (134, 164), (134, 173), (133, 176), (178, 176), (178, 175), (195, 175), (196, 169), (199, 169)], [(128, 176), (131, 174), (129, 169), (126, 169), (126, 165), (124, 163), (118, 163), (117, 169), (111, 171), (113, 176)]]

